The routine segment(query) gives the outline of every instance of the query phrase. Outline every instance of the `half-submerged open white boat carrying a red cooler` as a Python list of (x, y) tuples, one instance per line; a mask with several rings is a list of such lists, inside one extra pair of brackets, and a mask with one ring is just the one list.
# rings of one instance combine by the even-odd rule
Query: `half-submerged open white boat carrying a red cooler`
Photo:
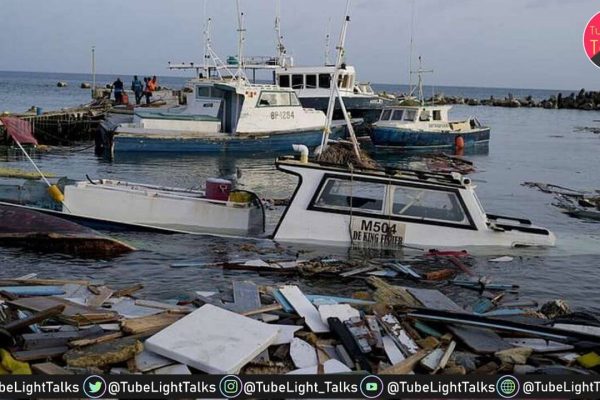
[[(29, 191), (25, 198), (19, 195), (24, 191)], [(100, 179), (70, 182), (63, 191), (62, 201), (52, 203), (43, 187), (6, 188), (0, 203), (98, 229), (224, 236), (260, 236), (265, 229), (258, 196), (233, 190), (231, 181), (224, 179), (207, 179), (205, 190)]]

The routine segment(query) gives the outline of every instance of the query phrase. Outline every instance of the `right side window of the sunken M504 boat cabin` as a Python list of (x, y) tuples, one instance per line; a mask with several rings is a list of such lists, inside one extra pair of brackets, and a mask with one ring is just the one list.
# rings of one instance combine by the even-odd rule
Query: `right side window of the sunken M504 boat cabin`
[(392, 214), (468, 224), (457, 194), (447, 191), (394, 186)]

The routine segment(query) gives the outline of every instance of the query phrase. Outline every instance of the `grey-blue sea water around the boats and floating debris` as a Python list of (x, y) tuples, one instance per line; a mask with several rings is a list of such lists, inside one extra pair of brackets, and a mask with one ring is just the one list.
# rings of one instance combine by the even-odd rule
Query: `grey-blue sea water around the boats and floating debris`
[[(129, 77), (125, 82), (129, 81)], [(99, 78), (107, 83), (114, 76)], [(56, 82), (66, 81), (67, 88)], [(60, 108), (86, 103), (89, 91), (79, 89), (87, 75), (0, 73), (0, 111), (19, 111), (32, 105)], [(178, 87), (182, 78), (160, 78), (162, 84)], [(378, 90), (405, 91), (405, 88), (375, 85)], [(436, 91), (439, 89), (436, 89)], [(526, 89), (442, 88), (446, 95), (488, 98), (504, 97), (509, 92), (521, 97), (546, 98), (556, 91)], [(567, 93), (568, 94), (568, 93)], [(473, 269), (495, 282), (521, 286), (522, 298), (545, 301), (567, 299), (576, 308), (600, 310), (596, 303), (600, 285), (600, 224), (570, 218), (554, 208), (552, 197), (521, 186), (524, 181), (549, 182), (575, 189), (599, 189), (597, 172), (600, 136), (574, 132), (577, 126), (597, 125), (597, 112), (575, 110), (508, 109), (455, 106), (453, 117), (475, 115), (492, 128), (489, 151), (471, 154), (469, 158), (478, 172), (472, 176), (478, 184), (478, 195), (488, 212), (530, 218), (537, 225), (554, 231), (558, 237), (553, 249), (498, 249), (476, 255)], [(123, 180), (181, 187), (200, 187), (207, 177), (229, 174), (240, 168), (240, 184), (267, 198), (289, 197), (295, 179), (277, 172), (270, 156), (120, 156), (112, 162), (97, 158), (93, 149), (55, 148), (37, 156), (42, 170), (73, 179), (118, 178)], [(405, 155), (377, 156), (380, 161), (399, 165)], [(29, 169), (14, 151), (2, 151), (3, 167)], [(4, 180), (9, 182), (8, 180)], [(274, 226), (281, 210), (269, 214)], [(253, 272), (223, 271), (215, 268), (172, 268), (173, 263), (224, 260), (227, 257), (253, 257), (253, 252), (240, 250), (243, 242), (185, 235), (120, 233), (120, 239), (137, 246), (140, 251), (111, 261), (83, 260), (61, 255), (36, 254), (17, 249), (0, 249), (2, 276), (18, 276), (37, 272), (42, 277), (72, 277), (104, 280), (113, 286), (143, 282), (145, 295), (154, 298), (185, 297), (194, 290), (230, 290), (232, 279), (249, 279), (257, 283), (295, 282), (309, 293), (345, 293), (364, 288), (331, 280), (298, 280), (297, 278), (258, 275)], [(269, 253), (273, 245), (258, 244)], [(297, 249), (290, 250), (290, 253)], [(347, 256), (344, 249), (302, 249), (306, 257), (319, 255)], [(492, 256), (512, 255), (509, 263), (490, 263)], [(350, 254), (351, 257), (358, 255)], [(442, 287), (454, 296), (462, 292)]]

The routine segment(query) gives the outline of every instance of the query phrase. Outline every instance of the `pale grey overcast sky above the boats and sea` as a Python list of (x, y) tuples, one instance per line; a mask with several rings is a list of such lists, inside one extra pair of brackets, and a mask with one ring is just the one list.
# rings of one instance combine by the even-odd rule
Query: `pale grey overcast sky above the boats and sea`
[[(0, 0), (0, 70), (169, 75), (168, 61), (202, 60), (204, 2), (213, 47), (237, 51), (235, 0)], [(353, 0), (347, 61), (359, 79), (408, 81), (414, 57), (426, 83), (548, 89), (600, 88), (582, 33), (597, 0)], [(276, 0), (241, 0), (246, 54), (272, 55)], [(322, 64), (331, 19), (335, 48), (346, 0), (281, 0), (284, 42), (296, 65)], [(333, 57), (333, 54), (332, 54)]]

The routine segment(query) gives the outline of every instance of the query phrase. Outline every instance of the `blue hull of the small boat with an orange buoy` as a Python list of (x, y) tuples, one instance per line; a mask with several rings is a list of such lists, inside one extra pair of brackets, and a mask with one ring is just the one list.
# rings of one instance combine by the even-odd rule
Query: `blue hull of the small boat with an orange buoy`
[(463, 138), (465, 147), (486, 144), (490, 141), (490, 129), (454, 133), (375, 127), (371, 140), (376, 147), (380, 148), (454, 148), (459, 136)]

